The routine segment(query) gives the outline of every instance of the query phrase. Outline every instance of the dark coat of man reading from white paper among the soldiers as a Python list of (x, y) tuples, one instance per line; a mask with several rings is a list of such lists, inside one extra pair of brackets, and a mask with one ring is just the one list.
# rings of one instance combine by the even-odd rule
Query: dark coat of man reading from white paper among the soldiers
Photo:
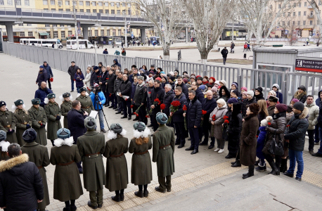
[(70, 130), (70, 136), (74, 138), (74, 144), (77, 143), (79, 136), (86, 133), (86, 127), (84, 125), (86, 117), (87, 116), (83, 114), (83, 110), (76, 110), (75, 108), (72, 108), (72, 110), (67, 113), (68, 129)]

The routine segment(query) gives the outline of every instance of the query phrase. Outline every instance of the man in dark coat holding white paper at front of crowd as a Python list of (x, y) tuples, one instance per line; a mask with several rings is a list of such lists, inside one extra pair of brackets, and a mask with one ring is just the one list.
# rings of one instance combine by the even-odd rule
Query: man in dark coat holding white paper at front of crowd
[[(122, 77), (123, 81), (120, 84), (120, 92), (119, 96), (121, 98), (122, 102), (122, 108), (124, 115), (121, 117), (121, 119), (127, 118), (128, 120), (131, 120), (131, 82), (129, 81), (129, 78), (126, 74), (123, 74)], [(126, 98), (125, 98), (126, 97)], [(129, 113), (129, 117), (127, 117), (127, 113)]]

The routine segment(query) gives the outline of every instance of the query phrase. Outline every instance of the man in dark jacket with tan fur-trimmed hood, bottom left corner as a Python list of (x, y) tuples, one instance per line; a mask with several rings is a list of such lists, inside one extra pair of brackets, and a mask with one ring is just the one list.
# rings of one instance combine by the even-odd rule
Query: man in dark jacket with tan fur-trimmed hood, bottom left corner
[(8, 146), (9, 160), (0, 163), (0, 207), (7, 211), (37, 210), (44, 199), (38, 167), (28, 162), (18, 143)]

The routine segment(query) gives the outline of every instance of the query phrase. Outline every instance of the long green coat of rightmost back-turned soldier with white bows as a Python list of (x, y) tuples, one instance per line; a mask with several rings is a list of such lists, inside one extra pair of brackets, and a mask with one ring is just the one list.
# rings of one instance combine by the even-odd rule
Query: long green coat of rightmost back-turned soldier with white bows
[(142, 145), (136, 144), (135, 139), (131, 139), (129, 143), (129, 153), (134, 153), (132, 155), (131, 183), (136, 186), (150, 184), (152, 180), (152, 164), (148, 152), (152, 148), (152, 141), (150, 136), (148, 138), (148, 143)]

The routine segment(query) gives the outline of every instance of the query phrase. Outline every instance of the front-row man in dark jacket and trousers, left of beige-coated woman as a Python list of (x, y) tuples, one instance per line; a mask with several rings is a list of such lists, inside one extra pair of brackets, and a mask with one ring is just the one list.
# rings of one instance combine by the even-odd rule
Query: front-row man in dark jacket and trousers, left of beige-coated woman
[(183, 117), (186, 117), (187, 128), (191, 137), (191, 146), (186, 148), (186, 151), (192, 151), (191, 155), (198, 153), (199, 146), (199, 132), (198, 129), (201, 123), (202, 109), (201, 103), (195, 96), (195, 91), (189, 91), (188, 110), (183, 113)]

